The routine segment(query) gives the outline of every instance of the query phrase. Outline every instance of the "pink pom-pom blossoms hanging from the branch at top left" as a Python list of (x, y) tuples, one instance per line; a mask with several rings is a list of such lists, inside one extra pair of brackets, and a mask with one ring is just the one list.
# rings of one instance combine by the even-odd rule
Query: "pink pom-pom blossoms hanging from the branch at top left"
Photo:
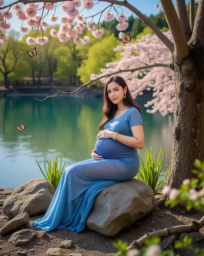
[[(3, 5), (4, 0), (0, 0), (0, 6)], [(40, 3), (28, 3), (25, 6), (22, 3), (16, 3), (12, 6), (15, 16), (17, 19), (22, 20), (22, 25), (19, 28), (19, 31), (22, 33), (27, 33), (29, 27), (36, 28), (37, 30), (42, 31), (42, 36), (28, 37), (28, 44), (46, 44), (48, 38), (43, 35), (43, 32), (47, 30), (49, 23), (43, 19), (43, 10), (48, 12), (53, 11), (49, 16), (50, 22), (56, 22), (59, 17), (55, 14), (56, 3), (41, 3), (42, 6), (39, 6)], [(80, 7), (87, 10), (92, 10), (94, 7), (93, 0), (72, 0), (65, 1), (60, 5), (60, 9), (64, 13), (64, 16), (60, 19), (59, 29), (52, 29), (50, 35), (56, 38), (59, 38), (59, 41), (66, 42), (73, 38), (74, 44), (87, 44), (90, 40), (88, 36), (83, 35), (85, 28), (92, 32), (92, 35), (95, 38), (99, 38), (103, 35), (104, 30), (99, 29), (99, 26), (96, 26), (91, 21), (85, 20), (83, 15), (80, 14)], [(40, 14), (37, 13), (40, 10)], [(3, 17), (3, 19), (2, 19)], [(11, 24), (8, 22), (12, 18), (12, 11), (9, 9), (4, 9), (3, 12), (0, 12), (0, 47), (3, 47), (3, 38), (6, 37), (6, 34), (2, 30), (9, 29)], [(107, 11), (104, 15), (104, 19), (110, 21), (114, 18), (114, 13), (111, 13), (110, 10)], [(117, 30), (123, 31), (127, 29), (128, 22), (127, 17), (124, 14), (117, 15), (117, 21), (119, 22), (116, 26)], [(75, 22), (77, 22), (76, 25)], [(26, 25), (25, 25), (26, 23)]]

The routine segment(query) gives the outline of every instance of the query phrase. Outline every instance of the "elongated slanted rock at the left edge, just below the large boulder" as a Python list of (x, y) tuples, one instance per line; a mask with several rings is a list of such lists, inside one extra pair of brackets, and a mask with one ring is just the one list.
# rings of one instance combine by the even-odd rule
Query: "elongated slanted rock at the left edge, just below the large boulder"
[(0, 229), (0, 236), (3, 236), (11, 231), (14, 231), (23, 225), (29, 224), (29, 215), (27, 212), (20, 213), (12, 220), (7, 222), (3, 228)]

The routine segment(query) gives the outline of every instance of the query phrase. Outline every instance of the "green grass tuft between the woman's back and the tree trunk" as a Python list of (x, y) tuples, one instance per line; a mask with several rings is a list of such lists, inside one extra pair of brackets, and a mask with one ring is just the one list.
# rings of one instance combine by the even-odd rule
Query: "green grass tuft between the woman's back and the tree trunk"
[(138, 174), (136, 175), (136, 178), (144, 181), (149, 186), (151, 186), (155, 195), (157, 195), (158, 192), (161, 189), (163, 189), (163, 187), (165, 186), (166, 177), (167, 177), (169, 168), (167, 168), (167, 171), (165, 172), (164, 176), (158, 182), (159, 176), (162, 171), (165, 154), (163, 152), (163, 157), (161, 158), (161, 148), (160, 148), (159, 155), (156, 160), (156, 157), (152, 156), (151, 149), (150, 149), (150, 152), (148, 152), (148, 149), (147, 149), (147, 152), (145, 153), (145, 161), (143, 161), (141, 156), (139, 155), (140, 169)]

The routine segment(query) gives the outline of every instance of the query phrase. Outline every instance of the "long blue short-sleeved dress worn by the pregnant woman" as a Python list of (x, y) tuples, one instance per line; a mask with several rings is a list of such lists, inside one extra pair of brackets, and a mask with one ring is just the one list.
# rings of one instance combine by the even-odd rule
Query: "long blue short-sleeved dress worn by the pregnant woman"
[[(142, 124), (142, 117), (135, 107), (130, 107), (121, 117), (105, 123), (104, 130), (133, 136), (130, 127)], [(43, 218), (33, 222), (38, 230), (66, 229), (79, 233), (95, 197), (103, 189), (120, 181), (130, 180), (139, 171), (136, 148), (114, 139), (97, 139), (96, 153), (103, 160), (93, 158), (78, 162), (65, 169), (53, 199)]]

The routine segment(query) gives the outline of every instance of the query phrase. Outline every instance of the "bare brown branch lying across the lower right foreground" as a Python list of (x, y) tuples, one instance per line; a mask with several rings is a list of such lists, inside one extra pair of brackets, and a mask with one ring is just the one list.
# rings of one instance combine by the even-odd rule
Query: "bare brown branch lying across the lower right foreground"
[(201, 228), (204, 227), (204, 216), (199, 221), (192, 221), (191, 224), (188, 225), (178, 225), (170, 228), (165, 228), (161, 230), (156, 230), (150, 233), (145, 234), (143, 237), (138, 240), (133, 241), (127, 250), (131, 250), (133, 248), (140, 249), (143, 245), (145, 245), (145, 240), (151, 237), (170, 237), (172, 235), (179, 235), (182, 233), (191, 233), (198, 232)]

